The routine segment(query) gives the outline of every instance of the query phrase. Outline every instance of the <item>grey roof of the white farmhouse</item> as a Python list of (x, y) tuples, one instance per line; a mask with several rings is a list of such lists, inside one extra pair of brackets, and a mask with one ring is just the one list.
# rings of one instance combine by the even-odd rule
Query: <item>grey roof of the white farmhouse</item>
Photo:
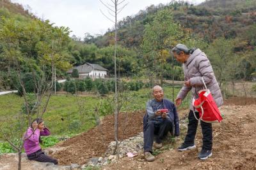
[(67, 73), (72, 73), (73, 69), (77, 69), (78, 73), (90, 73), (91, 71), (97, 70), (97, 71), (108, 71), (108, 69), (105, 69), (104, 67), (100, 66), (99, 64), (90, 64), (85, 63), (81, 66), (72, 67), (72, 69), (69, 69)]

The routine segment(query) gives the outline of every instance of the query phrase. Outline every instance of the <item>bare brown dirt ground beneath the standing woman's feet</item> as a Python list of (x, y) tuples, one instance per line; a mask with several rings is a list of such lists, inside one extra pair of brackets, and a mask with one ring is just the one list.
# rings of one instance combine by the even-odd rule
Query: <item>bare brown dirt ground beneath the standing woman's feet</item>
[[(225, 115), (223, 122), (213, 124), (211, 159), (198, 160), (200, 148), (186, 152), (174, 149), (157, 155), (154, 162), (145, 162), (143, 155), (139, 155), (134, 159), (126, 157), (118, 164), (102, 169), (256, 169), (256, 105), (228, 105), (223, 106), (221, 112)], [(197, 147), (202, 145), (201, 138), (201, 131), (198, 130)]]

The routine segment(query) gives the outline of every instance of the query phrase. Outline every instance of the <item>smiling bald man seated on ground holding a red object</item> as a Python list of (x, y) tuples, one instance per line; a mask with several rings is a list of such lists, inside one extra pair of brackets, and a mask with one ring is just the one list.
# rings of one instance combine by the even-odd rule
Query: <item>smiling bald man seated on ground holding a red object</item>
[[(168, 99), (164, 99), (162, 87), (156, 85), (153, 88), (154, 99), (147, 102), (147, 113), (143, 117), (144, 155), (148, 162), (154, 161), (152, 146), (154, 135), (156, 135), (155, 148), (161, 148), (162, 140), (170, 131), (179, 136), (179, 117), (175, 105)], [(162, 112), (162, 109), (168, 111)]]

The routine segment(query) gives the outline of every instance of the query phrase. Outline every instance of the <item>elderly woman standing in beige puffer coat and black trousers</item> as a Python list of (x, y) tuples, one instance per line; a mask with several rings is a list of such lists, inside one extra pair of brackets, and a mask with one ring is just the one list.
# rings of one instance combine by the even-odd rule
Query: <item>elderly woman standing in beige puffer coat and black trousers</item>
[[(175, 59), (183, 64), (185, 83), (184, 87), (180, 90), (177, 99), (175, 100), (176, 106), (180, 106), (182, 100), (186, 97), (189, 90), (192, 90), (192, 98), (198, 97), (198, 91), (204, 89), (204, 79), (207, 88), (211, 91), (212, 97), (217, 106), (223, 104), (220, 87), (214, 76), (211, 63), (204, 52), (200, 49), (189, 49), (186, 45), (178, 44), (173, 49), (173, 56)], [(178, 148), (179, 151), (189, 150), (195, 148), (195, 135), (198, 125), (198, 120), (194, 117), (192, 103), (189, 106), (188, 115), (188, 133), (184, 143)], [(199, 113), (195, 112), (196, 117)], [(203, 146), (198, 155), (199, 159), (207, 159), (212, 155), (212, 124), (201, 121), (200, 122), (203, 134)]]

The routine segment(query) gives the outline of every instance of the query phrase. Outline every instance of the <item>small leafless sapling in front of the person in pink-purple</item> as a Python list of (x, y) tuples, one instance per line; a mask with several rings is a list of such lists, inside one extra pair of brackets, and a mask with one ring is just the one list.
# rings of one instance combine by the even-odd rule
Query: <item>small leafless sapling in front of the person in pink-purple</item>
[[(12, 55), (11, 52), (10, 55)], [(13, 129), (12, 126), (16, 123), (9, 122), (8, 125), (10, 127), (8, 128), (3, 128), (2, 125), (0, 125), (0, 132), (3, 136), (3, 139), (7, 141), (13, 147), (14, 150), (17, 151), (19, 156), (18, 169), (20, 170), (22, 148), (26, 139), (30, 138), (30, 136), (26, 136), (26, 133), (24, 134), (24, 131), (26, 131), (26, 128), (31, 124), (32, 118), (35, 115), (35, 113), (36, 117), (43, 117), (47, 108), (47, 104), (49, 103), (49, 99), (51, 97), (53, 80), (51, 79), (51, 75), (46, 75), (46, 70), (42, 70), (39, 76), (35, 75), (35, 71), (32, 73), (33, 82), (35, 83), (35, 90), (32, 95), (36, 97), (35, 101), (31, 103), (31, 101), (28, 98), (28, 93), (26, 92), (25, 82), (22, 78), (22, 73), (20, 71), (20, 63), (16, 57), (12, 56), (12, 59), (14, 59), (14, 66), (16, 68), (19, 85), (21, 87), (21, 89), (19, 89), (18, 87), (17, 89), (20, 90), (20, 94), (22, 94), (22, 97), (24, 98), (24, 106), (22, 107), (23, 111), (17, 114), (17, 117), (19, 118), (16, 120), (19, 122), (18, 128)], [(53, 62), (51, 64), (51, 67), (53, 67)], [(45, 103), (42, 102), (42, 99), (45, 99)], [(6, 129), (8, 130), (6, 131)]]

